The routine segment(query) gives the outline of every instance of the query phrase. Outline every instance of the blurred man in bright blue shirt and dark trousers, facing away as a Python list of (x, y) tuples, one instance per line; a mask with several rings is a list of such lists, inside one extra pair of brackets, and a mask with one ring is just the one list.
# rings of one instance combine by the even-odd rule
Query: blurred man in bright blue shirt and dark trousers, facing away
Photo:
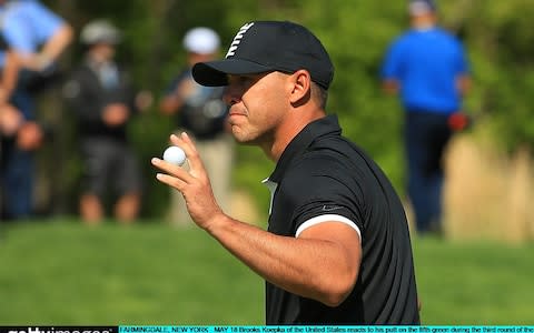
[(453, 131), (466, 125), (462, 98), (469, 87), (461, 42), (436, 26), (432, 0), (411, 1), (412, 29), (390, 46), (382, 68), (384, 88), (405, 109), (408, 195), (419, 234), (442, 233), (442, 159)]

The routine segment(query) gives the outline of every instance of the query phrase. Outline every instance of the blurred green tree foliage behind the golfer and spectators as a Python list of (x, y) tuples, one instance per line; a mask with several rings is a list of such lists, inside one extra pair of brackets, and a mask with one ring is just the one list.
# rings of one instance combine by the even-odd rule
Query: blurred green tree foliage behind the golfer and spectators
[[(293, 20), (307, 26), (325, 43), (336, 67), (328, 110), (339, 115), (345, 134), (367, 150), (403, 192), (402, 109), (379, 88), (378, 69), (388, 43), (407, 28), (406, 1), (375, 0), (58, 0), (44, 1), (76, 29), (93, 18), (108, 18), (125, 31), (121, 57), (134, 69), (139, 87), (158, 98), (178, 71), (185, 54), (181, 37), (194, 26), (221, 34), (224, 48), (245, 22)], [(531, 0), (439, 1), (442, 24), (464, 41), (474, 77), (466, 110), (479, 118), (496, 145), (508, 151), (534, 143), (531, 105), (534, 97), (534, 16)], [(80, 56), (73, 46), (68, 63)], [(152, 110), (135, 128), (136, 144), (146, 161), (147, 215), (158, 215), (167, 191), (152, 182), (150, 157), (166, 144), (171, 124)], [(239, 148), (235, 179), (265, 206), (268, 193), (258, 180), (273, 163), (254, 148)], [(73, 175), (72, 175), (73, 176)]]

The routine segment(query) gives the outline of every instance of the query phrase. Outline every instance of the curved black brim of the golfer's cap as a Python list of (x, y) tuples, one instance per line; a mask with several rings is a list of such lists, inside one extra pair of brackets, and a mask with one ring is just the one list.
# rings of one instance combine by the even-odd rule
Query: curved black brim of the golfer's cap
[(274, 69), (243, 59), (198, 62), (192, 67), (195, 81), (207, 87), (228, 85), (228, 74), (257, 74)]

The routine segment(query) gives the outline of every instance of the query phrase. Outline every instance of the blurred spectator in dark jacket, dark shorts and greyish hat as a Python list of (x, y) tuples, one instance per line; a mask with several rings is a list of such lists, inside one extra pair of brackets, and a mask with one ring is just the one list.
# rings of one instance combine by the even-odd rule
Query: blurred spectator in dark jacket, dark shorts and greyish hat
[(87, 48), (85, 59), (63, 87), (79, 127), (85, 170), (80, 213), (85, 222), (98, 223), (109, 199), (115, 218), (129, 223), (139, 214), (141, 174), (127, 127), (149, 107), (150, 95), (136, 94), (128, 73), (116, 62), (120, 31), (115, 26), (92, 21), (83, 27), (80, 40)]

